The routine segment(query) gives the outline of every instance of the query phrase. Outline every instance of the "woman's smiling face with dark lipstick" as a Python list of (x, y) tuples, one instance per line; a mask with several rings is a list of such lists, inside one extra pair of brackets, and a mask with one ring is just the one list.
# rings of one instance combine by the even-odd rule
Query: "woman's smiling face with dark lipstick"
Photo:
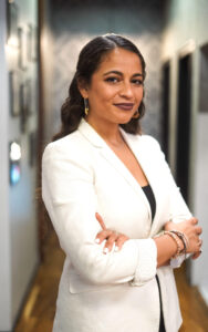
[(89, 122), (128, 123), (143, 98), (141, 59), (131, 51), (114, 49), (92, 75), (91, 84), (81, 89), (81, 94), (89, 98)]

